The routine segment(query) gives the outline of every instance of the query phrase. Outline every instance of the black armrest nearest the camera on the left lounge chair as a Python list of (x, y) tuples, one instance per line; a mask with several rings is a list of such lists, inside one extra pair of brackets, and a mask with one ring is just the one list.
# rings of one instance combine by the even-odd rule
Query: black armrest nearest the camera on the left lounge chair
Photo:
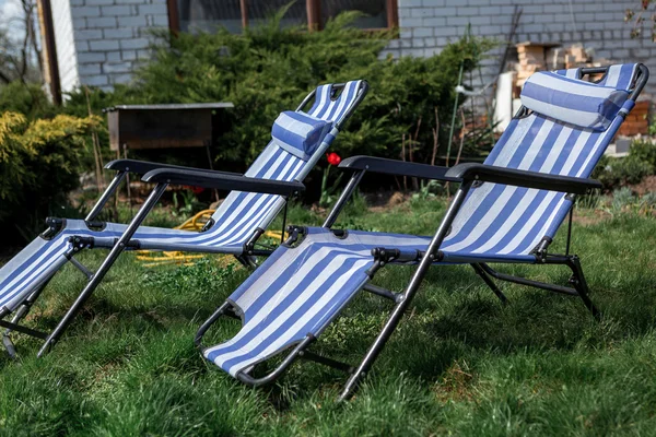
[(305, 190), (305, 186), (297, 181), (288, 182), (283, 180), (257, 179), (242, 175), (216, 174), (178, 168), (155, 169), (147, 173), (141, 180), (144, 182), (191, 185), (195, 187), (215, 188), (220, 190), (261, 192), (280, 196), (291, 196), (295, 192)]

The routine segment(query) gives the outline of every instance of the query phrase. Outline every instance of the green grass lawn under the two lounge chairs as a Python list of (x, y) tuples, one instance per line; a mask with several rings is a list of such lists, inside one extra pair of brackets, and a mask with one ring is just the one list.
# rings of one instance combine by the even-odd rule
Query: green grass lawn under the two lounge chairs
[[(430, 235), (444, 208), (351, 208), (341, 223)], [(318, 224), (320, 215), (295, 208), (290, 222)], [(317, 364), (298, 362), (277, 385), (251, 389), (200, 357), (197, 328), (245, 270), (215, 258), (152, 269), (127, 253), (47, 357), (35, 358), (39, 342), (14, 336), (21, 359), (0, 358), (0, 434), (653, 435), (656, 221), (621, 213), (575, 224), (573, 250), (601, 322), (578, 298), (517, 285), (501, 284), (504, 307), (470, 268), (435, 267), (374, 371), (342, 404), (335, 399), (344, 376)], [(82, 260), (94, 264), (103, 255)], [(569, 277), (560, 267), (501, 270), (560, 284)], [(400, 291), (412, 271), (385, 268), (376, 283)], [(67, 268), (30, 324), (54, 327), (82, 285)], [(388, 309), (386, 300), (359, 296), (318, 350), (358, 363)], [(219, 324), (219, 333), (233, 333), (233, 323)]]

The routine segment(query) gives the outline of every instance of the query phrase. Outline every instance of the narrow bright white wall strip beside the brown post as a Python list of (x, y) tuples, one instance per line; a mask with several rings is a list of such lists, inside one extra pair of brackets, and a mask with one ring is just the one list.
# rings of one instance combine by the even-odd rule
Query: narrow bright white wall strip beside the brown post
[(73, 23), (69, 0), (51, 0), (52, 26), (57, 46), (57, 63), (59, 64), (59, 81), (63, 92), (79, 86), (78, 60), (75, 57), (75, 40), (73, 39)]

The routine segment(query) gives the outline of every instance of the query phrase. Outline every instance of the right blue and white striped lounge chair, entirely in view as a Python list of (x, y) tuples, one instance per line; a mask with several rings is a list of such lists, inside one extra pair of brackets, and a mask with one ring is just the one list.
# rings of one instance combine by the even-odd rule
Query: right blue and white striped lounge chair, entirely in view
[[(591, 73), (605, 75), (597, 83), (582, 80)], [(588, 177), (647, 78), (642, 64), (534, 74), (522, 94), (524, 107), (484, 164), (445, 168), (366, 156), (344, 160), (340, 167), (353, 175), (324, 226), (294, 228), (203, 323), (196, 336), (202, 355), (253, 386), (276, 379), (296, 357), (313, 359), (350, 374), (341, 393), (347, 398), (370, 370), (432, 264), (471, 264), (503, 302), (492, 277), (579, 296), (598, 316), (578, 258), (570, 255), (569, 234), (564, 255), (548, 249), (572, 212), (574, 197), (600, 188)], [(433, 237), (331, 229), (365, 172), (460, 186)], [(419, 264), (402, 293), (370, 284), (390, 262)], [(564, 264), (572, 269), (572, 286), (497, 273), (489, 263)], [(362, 363), (350, 366), (307, 350), (361, 290), (394, 302)], [(224, 343), (203, 346), (203, 335), (223, 315), (241, 318), (241, 331)], [(274, 369), (254, 376), (258, 363), (283, 351), (288, 354)]]

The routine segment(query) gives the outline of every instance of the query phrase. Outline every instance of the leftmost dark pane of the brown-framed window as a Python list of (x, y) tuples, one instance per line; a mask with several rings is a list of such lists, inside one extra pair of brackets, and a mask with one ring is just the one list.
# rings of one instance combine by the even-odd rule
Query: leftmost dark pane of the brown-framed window
[(225, 26), (232, 33), (242, 32), (239, 0), (177, 0), (180, 31), (211, 32)]

